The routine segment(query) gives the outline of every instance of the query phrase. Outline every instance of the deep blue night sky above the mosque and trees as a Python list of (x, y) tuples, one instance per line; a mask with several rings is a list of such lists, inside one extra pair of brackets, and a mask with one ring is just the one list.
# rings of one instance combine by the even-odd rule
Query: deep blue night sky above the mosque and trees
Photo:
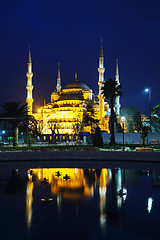
[(34, 110), (50, 101), (57, 65), (62, 86), (78, 79), (98, 92), (98, 58), (103, 38), (105, 80), (119, 59), (122, 107), (149, 113), (160, 103), (160, 2), (157, 0), (1, 0), (0, 104), (26, 98), (28, 46), (33, 66)]

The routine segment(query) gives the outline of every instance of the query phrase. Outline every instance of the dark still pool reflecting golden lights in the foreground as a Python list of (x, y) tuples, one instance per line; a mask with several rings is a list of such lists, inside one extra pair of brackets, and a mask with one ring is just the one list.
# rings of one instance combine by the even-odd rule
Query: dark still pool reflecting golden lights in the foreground
[(0, 169), (0, 239), (160, 239), (160, 169)]

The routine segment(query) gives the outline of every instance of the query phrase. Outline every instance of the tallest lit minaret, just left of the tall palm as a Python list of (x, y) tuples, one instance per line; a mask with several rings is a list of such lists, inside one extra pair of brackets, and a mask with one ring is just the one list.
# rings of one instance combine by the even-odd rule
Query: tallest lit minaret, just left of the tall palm
[(102, 94), (101, 88), (104, 86), (104, 58), (103, 58), (103, 46), (102, 46), (102, 38), (101, 38), (101, 48), (100, 48), (100, 56), (99, 56), (99, 94), (98, 94), (98, 99), (99, 99), (99, 119), (102, 120), (104, 117), (104, 96)]

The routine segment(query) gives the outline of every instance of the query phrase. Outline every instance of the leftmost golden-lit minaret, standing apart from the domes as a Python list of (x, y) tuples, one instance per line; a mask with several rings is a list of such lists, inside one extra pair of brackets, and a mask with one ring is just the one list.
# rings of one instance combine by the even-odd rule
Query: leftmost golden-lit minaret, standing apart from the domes
[(33, 90), (33, 85), (32, 85), (32, 62), (31, 62), (31, 52), (30, 52), (30, 45), (29, 45), (29, 54), (28, 54), (28, 72), (26, 74), (27, 76), (27, 107), (28, 107), (28, 114), (32, 114), (32, 104), (33, 104), (33, 98), (32, 98), (32, 90)]

